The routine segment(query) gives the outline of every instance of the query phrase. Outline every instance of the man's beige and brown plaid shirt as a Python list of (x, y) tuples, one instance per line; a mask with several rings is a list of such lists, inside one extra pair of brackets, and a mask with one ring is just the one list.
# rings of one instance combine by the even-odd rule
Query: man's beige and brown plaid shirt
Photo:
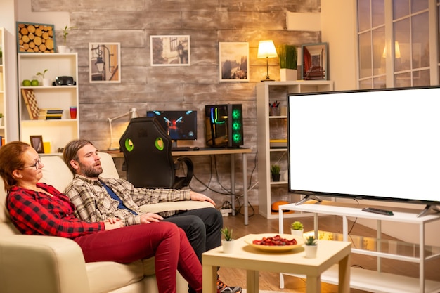
[[(102, 181), (124, 202), (127, 209), (118, 209), (119, 202), (113, 200), (105, 190)], [(65, 194), (75, 204), (75, 216), (83, 221), (96, 222), (117, 217), (124, 222), (125, 226), (141, 223), (140, 214), (145, 214), (139, 206), (144, 204), (156, 204), (158, 202), (176, 202), (190, 200), (190, 190), (176, 189), (148, 189), (136, 188), (124, 179), (101, 178), (91, 180), (81, 175), (75, 175), (73, 181), (67, 186)], [(177, 211), (164, 211), (161, 216), (167, 217), (176, 214)]]

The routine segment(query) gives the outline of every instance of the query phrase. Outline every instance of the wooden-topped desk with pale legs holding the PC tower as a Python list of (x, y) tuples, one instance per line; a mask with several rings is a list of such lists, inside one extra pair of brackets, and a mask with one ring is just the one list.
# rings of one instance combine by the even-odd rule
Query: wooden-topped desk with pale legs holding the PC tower
[[(122, 152), (107, 151), (112, 158), (124, 158)], [(249, 223), (249, 210), (247, 202), (247, 160), (246, 154), (251, 152), (250, 148), (200, 148), (199, 150), (179, 150), (172, 151), (174, 157), (180, 156), (202, 156), (202, 155), (231, 155), (231, 204), (232, 213), (235, 216), (235, 159), (234, 155), (242, 155), (242, 170), (243, 170), (243, 207), (245, 216), (245, 225)]]

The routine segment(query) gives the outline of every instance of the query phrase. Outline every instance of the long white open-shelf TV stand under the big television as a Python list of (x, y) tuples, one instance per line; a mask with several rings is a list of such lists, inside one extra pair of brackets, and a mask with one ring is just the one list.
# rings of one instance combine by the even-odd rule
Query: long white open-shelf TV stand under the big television
[[(420, 211), (411, 211), (409, 209), (393, 208), (394, 216), (384, 216), (362, 211), (362, 206), (356, 204), (342, 204), (340, 202), (322, 202), (321, 204), (285, 204), (280, 207), (284, 210), (294, 210), (303, 213), (312, 213), (314, 216), (315, 235), (318, 234), (318, 215), (342, 216), (342, 239), (351, 241), (352, 254), (363, 254), (375, 256), (377, 258), (376, 271), (363, 268), (351, 267), (350, 287), (352, 289), (367, 290), (368, 292), (380, 293), (438, 293), (440, 292), (440, 282), (436, 280), (425, 279), (425, 268), (427, 261), (438, 259), (440, 257), (439, 247), (425, 245), (425, 230), (428, 223), (440, 221), (440, 214), (428, 214), (418, 216)], [(382, 209), (384, 209), (382, 207)], [(279, 231), (283, 233), (283, 213), (279, 217)], [(371, 241), (368, 237), (349, 235), (348, 217), (352, 219), (373, 219), (377, 221), (377, 238)], [(413, 224), (419, 228), (418, 245), (406, 242), (397, 242), (395, 240), (382, 239), (382, 221), (392, 221), (399, 223)], [(408, 225), (408, 227), (413, 227)], [(333, 239), (337, 239), (333, 237)], [(319, 248), (318, 248), (319, 249)], [(418, 263), (419, 278), (410, 278), (404, 275), (385, 273), (382, 271), (381, 260), (394, 259), (398, 261), (407, 261)], [(321, 275), (323, 282), (337, 284), (337, 267), (332, 267)], [(284, 277), (280, 274), (280, 288), (284, 287)]]

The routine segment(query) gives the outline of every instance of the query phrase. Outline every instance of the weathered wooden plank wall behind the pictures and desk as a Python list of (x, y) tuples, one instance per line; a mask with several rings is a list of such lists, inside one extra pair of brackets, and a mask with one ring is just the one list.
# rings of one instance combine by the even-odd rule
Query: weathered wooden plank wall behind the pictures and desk
[[(108, 117), (136, 107), (141, 115), (153, 109), (198, 110), (199, 139), (191, 145), (205, 145), (204, 106), (241, 103), (244, 109), (245, 147), (251, 184), (257, 182), (257, 121), (255, 84), (266, 77), (266, 60), (257, 59), (260, 40), (275, 44), (321, 41), (321, 32), (287, 31), (286, 12), (319, 12), (320, 0), (32, 0), (32, 11), (68, 11), (72, 30), (67, 46), (79, 55), (80, 136), (99, 150), (110, 143)], [(47, 20), (50, 23), (50, 20)], [(67, 25), (67, 23), (66, 23)], [(57, 42), (61, 27), (56, 27)], [(150, 35), (190, 35), (190, 66), (151, 67)], [(247, 41), (250, 44), (250, 82), (219, 82), (219, 42)], [(120, 84), (89, 83), (89, 42), (121, 44)], [(269, 59), (272, 79), (279, 80), (278, 58)], [(113, 122), (115, 137), (127, 122)], [(183, 145), (183, 143), (181, 144)], [(216, 167), (209, 166), (216, 159)], [(194, 158), (195, 174), (212, 190), (230, 188), (229, 157)], [(255, 167), (255, 169), (254, 169)], [(145, 168), (154, 168), (147, 167)], [(242, 194), (241, 162), (235, 164), (238, 194)], [(216, 174), (218, 173), (218, 175)], [(193, 180), (194, 190), (203, 191), (218, 205), (228, 200)], [(224, 193), (225, 191), (222, 190)], [(242, 203), (242, 202), (241, 202)], [(258, 205), (257, 190), (250, 203)]]

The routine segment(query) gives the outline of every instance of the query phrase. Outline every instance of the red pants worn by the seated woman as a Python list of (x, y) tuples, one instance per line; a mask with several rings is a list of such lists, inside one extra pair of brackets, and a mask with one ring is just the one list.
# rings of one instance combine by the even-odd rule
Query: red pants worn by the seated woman
[(188, 238), (174, 223), (159, 222), (127, 226), (74, 239), (86, 262), (131, 263), (155, 256), (160, 293), (176, 292), (176, 271), (196, 292), (202, 292), (202, 266)]

